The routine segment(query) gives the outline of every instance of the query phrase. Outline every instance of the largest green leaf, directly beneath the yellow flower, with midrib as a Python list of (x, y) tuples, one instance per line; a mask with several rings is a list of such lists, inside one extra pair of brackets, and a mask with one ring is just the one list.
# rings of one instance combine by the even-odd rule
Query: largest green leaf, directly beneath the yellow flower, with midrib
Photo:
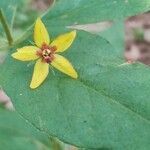
[(118, 66), (115, 52), (101, 37), (78, 32), (65, 53), (78, 80), (55, 71), (31, 90), (33, 66), (8, 56), (0, 68), (0, 82), (29, 122), (63, 141), (86, 148), (148, 150), (150, 69)]

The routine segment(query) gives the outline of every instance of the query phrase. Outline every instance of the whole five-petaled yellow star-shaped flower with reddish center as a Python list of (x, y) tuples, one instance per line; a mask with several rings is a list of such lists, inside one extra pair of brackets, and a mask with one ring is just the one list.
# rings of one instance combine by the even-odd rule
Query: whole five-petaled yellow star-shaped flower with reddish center
[(76, 79), (78, 77), (71, 63), (63, 56), (56, 54), (68, 49), (75, 37), (76, 31), (72, 31), (60, 35), (53, 42), (50, 42), (49, 34), (41, 19), (36, 20), (34, 28), (36, 46), (25, 46), (17, 49), (17, 52), (12, 54), (13, 58), (21, 61), (37, 60), (30, 84), (32, 89), (37, 88), (46, 79), (49, 73), (49, 65), (72, 78)]

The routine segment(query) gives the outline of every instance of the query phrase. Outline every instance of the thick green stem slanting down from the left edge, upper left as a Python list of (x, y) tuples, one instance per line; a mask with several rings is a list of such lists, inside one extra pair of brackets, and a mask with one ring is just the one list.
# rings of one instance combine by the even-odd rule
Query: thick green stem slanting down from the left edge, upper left
[(9, 43), (9, 45), (12, 45), (12, 43), (13, 43), (13, 38), (12, 38), (12, 35), (11, 35), (11, 32), (10, 32), (8, 23), (7, 23), (7, 21), (6, 21), (6, 18), (5, 18), (5, 16), (4, 16), (4, 14), (3, 14), (2, 9), (0, 9), (0, 21), (1, 21), (1, 23), (2, 23), (2, 26), (3, 26), (4, 30), (5, 30), (8, 43)]

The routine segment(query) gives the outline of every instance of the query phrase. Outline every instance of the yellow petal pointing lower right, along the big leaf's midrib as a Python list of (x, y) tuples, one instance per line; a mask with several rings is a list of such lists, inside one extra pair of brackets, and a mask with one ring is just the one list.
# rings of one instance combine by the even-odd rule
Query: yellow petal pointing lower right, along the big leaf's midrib
[(59, 71), (71, 76), (72, 78), (76, 79), (78, 77), (77, 72), (74, 70), (71, 63), (63, 56), (55, 54), (51, 65)]

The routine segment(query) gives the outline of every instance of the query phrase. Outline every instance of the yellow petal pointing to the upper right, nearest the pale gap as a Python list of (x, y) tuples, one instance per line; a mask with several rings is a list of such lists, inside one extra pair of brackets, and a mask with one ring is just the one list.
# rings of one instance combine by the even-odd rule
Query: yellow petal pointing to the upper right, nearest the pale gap
[(73, 43), (76, 37), (76, 31), (72, 31), (57, 37), (52, 43), (51, 46), (56, 46), (56, 52), (63, 52), (68, 49)]

